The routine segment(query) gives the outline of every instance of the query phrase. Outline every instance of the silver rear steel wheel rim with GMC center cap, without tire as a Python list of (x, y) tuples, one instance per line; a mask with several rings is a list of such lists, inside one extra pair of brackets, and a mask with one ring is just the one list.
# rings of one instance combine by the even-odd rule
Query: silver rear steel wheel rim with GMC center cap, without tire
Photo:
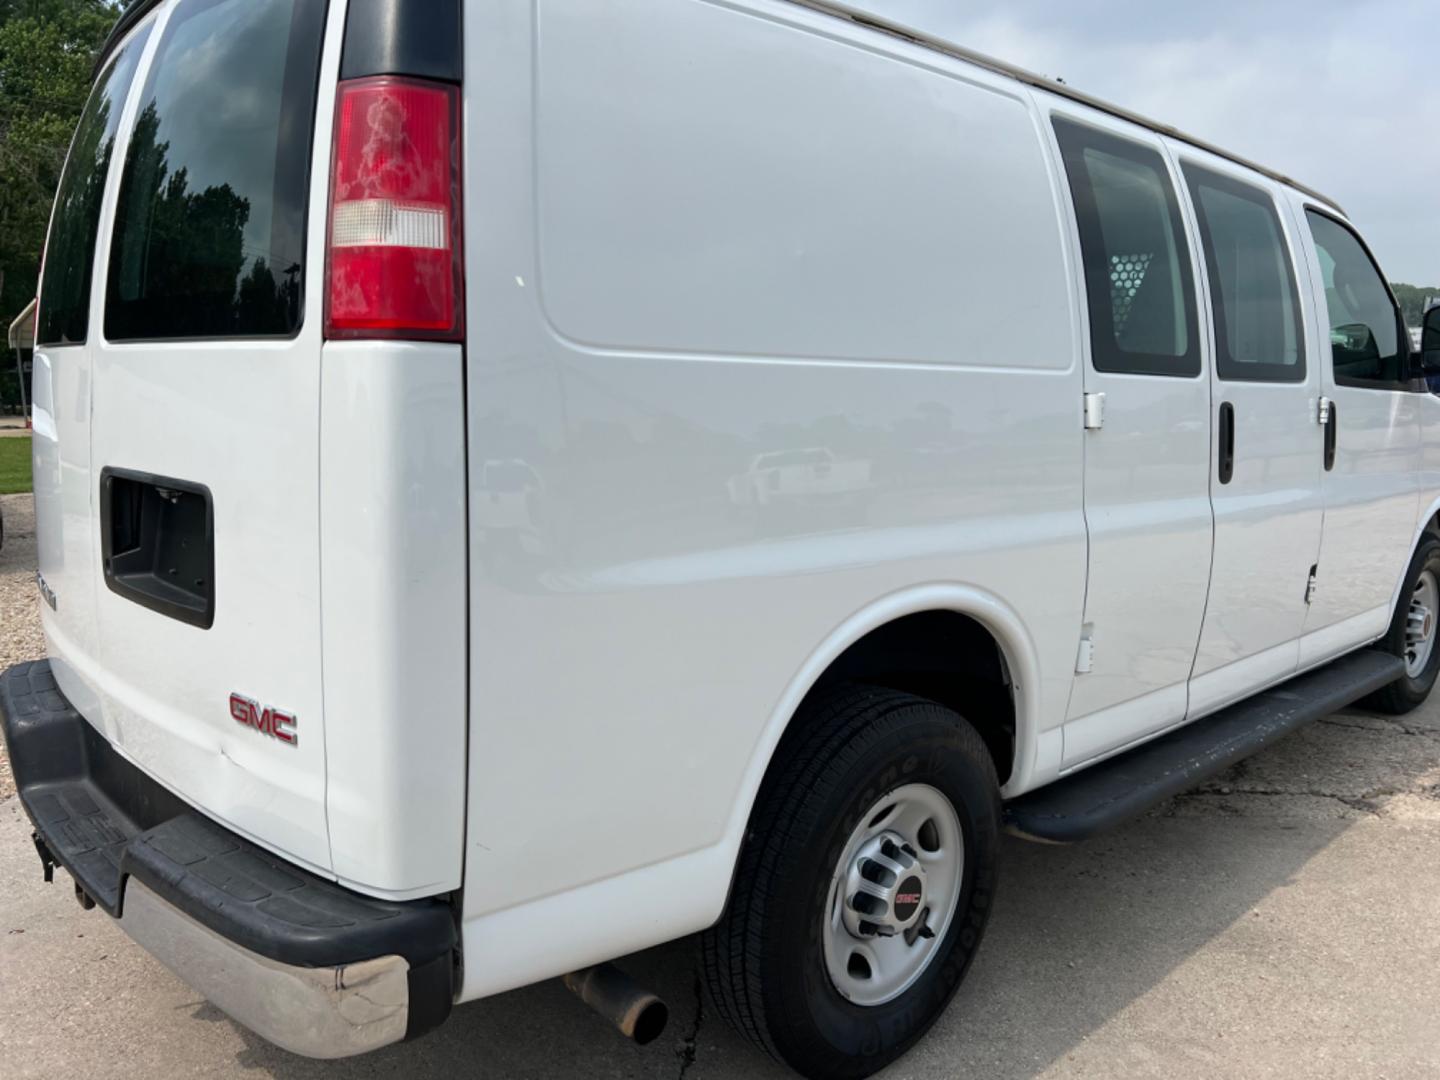
[(825, 968), (855, 1005), (904, 994), (945, 940), (965, 876), (965, 832), (950, 801), (909, 783), (860, 818), (831, 878)]

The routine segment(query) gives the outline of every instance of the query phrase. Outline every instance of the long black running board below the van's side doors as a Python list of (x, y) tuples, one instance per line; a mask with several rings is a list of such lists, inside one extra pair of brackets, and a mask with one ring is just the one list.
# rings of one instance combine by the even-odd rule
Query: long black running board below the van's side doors
[(1048, 844), (1087, 840), (1404, 674), (1405, 664), (1398, 657), (1371, 649), (1352, 652), (1012, 799), (1005, 804), (1005, 828)]

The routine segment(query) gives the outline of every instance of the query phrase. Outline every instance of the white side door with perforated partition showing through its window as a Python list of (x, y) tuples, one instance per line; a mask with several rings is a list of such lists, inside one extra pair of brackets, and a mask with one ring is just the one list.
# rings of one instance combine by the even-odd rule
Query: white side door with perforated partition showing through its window
[(1090, 560), (1070, 766), (1185, 719), (1210, 583), (1210, 380), (1198, 271), (1159, 138), (1068, 107), (1053, 124), (1089, 323)]

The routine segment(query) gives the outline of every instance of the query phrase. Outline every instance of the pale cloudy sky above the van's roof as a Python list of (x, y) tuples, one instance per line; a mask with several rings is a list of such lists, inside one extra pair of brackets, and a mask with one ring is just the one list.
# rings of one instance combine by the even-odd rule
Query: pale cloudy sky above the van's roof
[(1436, 0), (850, 1), (1319, 189), (1391, 281), (1440, 285)]

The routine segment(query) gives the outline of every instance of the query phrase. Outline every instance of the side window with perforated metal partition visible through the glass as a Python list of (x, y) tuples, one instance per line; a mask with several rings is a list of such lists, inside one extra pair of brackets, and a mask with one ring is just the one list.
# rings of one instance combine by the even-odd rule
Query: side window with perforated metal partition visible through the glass
[(1195, 282), (1158, 151), (1056, 117), (1070, 180), (1097, 372), (1200, 374)]

